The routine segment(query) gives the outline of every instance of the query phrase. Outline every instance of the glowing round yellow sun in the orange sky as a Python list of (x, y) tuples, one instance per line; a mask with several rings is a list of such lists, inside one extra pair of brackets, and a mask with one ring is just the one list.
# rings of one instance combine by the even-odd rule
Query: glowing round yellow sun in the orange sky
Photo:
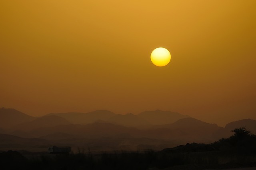
[(171, 54), (166, 48), (156, 48), (152, 51), (150, 59), (156, 66), (166, 66), (171, 60)]

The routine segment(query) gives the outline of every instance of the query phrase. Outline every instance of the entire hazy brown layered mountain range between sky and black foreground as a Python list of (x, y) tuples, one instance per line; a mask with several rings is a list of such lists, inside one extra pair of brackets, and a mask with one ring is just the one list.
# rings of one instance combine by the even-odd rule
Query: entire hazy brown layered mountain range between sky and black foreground
[(255, 134), (256, 120), (251, 119), (230, 122), (223, 128), (161, 110), (138, 115), (97, 110), (33, 117), (1, 108), (0, 149), (68, 145), (92, 150), (158, 150), (189, 142), (211, 143), (229, 137), (232, 129), (244, 126)]

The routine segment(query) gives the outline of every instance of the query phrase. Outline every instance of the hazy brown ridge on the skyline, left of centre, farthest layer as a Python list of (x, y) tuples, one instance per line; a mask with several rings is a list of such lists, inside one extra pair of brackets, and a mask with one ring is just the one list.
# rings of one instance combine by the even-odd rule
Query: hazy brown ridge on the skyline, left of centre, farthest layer
[(116, 115), (113, 112), (108, 110), (96, 110), (88, 113), (51, 113), (48, 115), (56, 115), (66, 120), (70, 121), (73, 124), (88, 124), (96, 122), (97, 120), (108, 120), (110, 117)]

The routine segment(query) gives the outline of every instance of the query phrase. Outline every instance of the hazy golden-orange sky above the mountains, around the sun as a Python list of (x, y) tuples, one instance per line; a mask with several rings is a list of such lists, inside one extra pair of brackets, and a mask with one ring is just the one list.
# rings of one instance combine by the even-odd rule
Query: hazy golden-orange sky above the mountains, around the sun
[[(0, 105), (256, 119), (255, 0), (2, 0)], [(157, 67), (154, 48), (171, 62)]]

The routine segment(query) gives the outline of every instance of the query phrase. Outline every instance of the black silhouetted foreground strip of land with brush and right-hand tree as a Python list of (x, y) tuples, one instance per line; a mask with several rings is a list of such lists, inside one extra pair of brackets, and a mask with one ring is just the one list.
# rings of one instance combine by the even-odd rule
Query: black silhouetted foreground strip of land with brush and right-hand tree
[(160, 152), (102, 152), (92, 154), (79, 150), (74, 154), (44, 154), (26, 158), (16, 151), (0, 153), (0, 164), (6, 170), (200, 170), (256, 166), (256, 136), (244, 127), (232, 130), (234, 135), (212, 144), (186, 144)]

